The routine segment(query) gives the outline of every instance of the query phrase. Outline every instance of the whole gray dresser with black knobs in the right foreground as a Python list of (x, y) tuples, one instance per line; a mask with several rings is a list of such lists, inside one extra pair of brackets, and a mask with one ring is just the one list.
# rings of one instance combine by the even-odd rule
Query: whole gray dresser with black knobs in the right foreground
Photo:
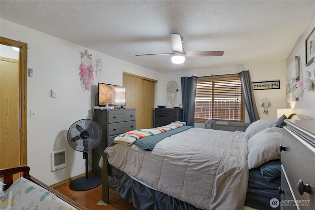
[(281, 209), (315, 208), (315, 120), (285, 120), (280, 145)]

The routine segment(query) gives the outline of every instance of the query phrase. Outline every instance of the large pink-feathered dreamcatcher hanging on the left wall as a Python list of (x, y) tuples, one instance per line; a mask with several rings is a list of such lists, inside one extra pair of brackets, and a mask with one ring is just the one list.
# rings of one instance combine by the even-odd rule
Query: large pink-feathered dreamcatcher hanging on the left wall
[[(81, 52), (81, 66), (80, 66), (80, 75), (81, 75), (81, 82), (82, 88), (85, 90), (90, 90), (90, 85), (93, 84), (94, 81), (94, 69), (92, 64), (92, 54), (88, 53), (88, 50), (85, 53)], [(94, 88), (92, 86), (92, 88)]]

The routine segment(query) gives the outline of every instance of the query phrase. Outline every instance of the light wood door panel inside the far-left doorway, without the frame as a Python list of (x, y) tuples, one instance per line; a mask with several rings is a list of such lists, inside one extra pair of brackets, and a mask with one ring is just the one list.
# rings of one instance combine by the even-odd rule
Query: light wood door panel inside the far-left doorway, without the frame
[(19, 61), (0, 57), (0, 168), (20, 166)]

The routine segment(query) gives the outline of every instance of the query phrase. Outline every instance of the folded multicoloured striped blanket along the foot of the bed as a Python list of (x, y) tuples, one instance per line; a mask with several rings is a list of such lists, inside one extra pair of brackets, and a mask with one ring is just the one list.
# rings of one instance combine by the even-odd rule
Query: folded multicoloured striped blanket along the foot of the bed
[(154, 135), (166, 132), (166, 131), (174, 130), (176, 128), (183, 127), (184, 125), (186, 125), (186, 122), (175, 121), (175, 122), (172, 122), (168, 125), (161, 126), (158, 128), (128, 131), (128, 132), (121, 134), (118, 137), (116, 137), (114, 139), (114, 143), (131, 145), (131, 144), (133, 144), (134, 141), (136, 141), (138, 139), (149, 137), (149, 136), (154, 136)]

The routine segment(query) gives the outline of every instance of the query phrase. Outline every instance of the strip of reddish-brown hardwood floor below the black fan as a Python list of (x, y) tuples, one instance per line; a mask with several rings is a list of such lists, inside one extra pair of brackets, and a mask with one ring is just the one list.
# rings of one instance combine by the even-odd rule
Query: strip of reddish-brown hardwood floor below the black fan
[(69, 188), (69, 184), (70, 182), (57, 186), (54, 189), (89, 210), (135, 210), (127, 200), (123, 199), (112, 189), (109, 190), (110, 204), (107, 206), (98, 206), (96, 205), (97, 202), (102, 200), (101, 185), (92, 190), (73, 191)]

